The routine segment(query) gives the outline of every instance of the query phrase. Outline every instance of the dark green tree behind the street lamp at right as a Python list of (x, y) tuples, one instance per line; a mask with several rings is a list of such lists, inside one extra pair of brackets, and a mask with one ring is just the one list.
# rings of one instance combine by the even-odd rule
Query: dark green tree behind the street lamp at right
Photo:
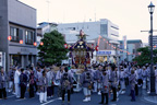
[[(150, 63), (150, 50), (149, 47), (142, 47), (137, 49), (141, 52), (140, 56), (135, 57), (133, 61), (136, 61), (137, 65), (144, 66), (145, 63)], [(157, 49), (153, 50), (154, 54), (154, 63), (157, 62)]]

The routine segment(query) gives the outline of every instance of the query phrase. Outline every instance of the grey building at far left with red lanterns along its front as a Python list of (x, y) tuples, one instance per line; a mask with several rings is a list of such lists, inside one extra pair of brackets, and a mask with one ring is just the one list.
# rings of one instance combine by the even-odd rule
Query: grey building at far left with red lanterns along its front
[[(10, 40), (8, 40), (10, 37)], [(19, 0), (0, 0), (0, 50), (5, 67), (36, 65), (36, 9)]]

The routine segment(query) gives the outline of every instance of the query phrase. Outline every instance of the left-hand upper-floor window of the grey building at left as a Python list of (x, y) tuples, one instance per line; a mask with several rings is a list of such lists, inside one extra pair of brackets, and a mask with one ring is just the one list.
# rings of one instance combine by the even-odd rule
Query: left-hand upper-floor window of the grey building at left
[(12, 37), (12, 42), (19, 42), (19, 28), (16, 27), (10, 27), (10, 35)]

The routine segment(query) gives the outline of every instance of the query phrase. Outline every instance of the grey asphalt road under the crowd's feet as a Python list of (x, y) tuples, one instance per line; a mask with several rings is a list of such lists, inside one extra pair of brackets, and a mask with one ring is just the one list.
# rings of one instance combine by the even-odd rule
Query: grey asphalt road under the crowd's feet
[[(57, 92), (57, 91), (56, 91)], [(126, 90), (126, 93), (123, 95), (119, 95), (119, 100), (117, 102), (110, 102), (109, 105), (156, 105), (153, 103), (148, 103), (143, 100), (143, 93), (140, 93), (140, 96), (136, 96), (136, 102), (131, 102), (131, 97), (129, 96), (130, 90)], [(100, 96), (96, 93), (92, 94), (92, 101), (84, 103), (84, 95), (83, 92), (74, 93), (71, 95), (71, 103), (68, 104), (67, 96), (65, 102), (62, 104), (62, 101), (60, 101), (57, 97), (57, 94), (55, 94), (55, 97), (49, 98), (47, 103), (40, 104), (39, 103), (39, 96), (36, 95), (34, 98), (28, 98), (28, 93), (25, 95), (25, 100), (16, 98), (15, 95), (8, 93), (8, 100), (0, 100), (0, 105), (99, 105)], [(112, 98), (112, 94), (110, 95), (109, 100)]]

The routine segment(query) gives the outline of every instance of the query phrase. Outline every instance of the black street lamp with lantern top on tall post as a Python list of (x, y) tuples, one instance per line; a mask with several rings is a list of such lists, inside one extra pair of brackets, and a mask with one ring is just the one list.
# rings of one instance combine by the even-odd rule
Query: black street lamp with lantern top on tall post
[(150, 13), (150, 95), (155, 95), (155, 72), (153, 70), (154, 61), (153, 61), (153, 13), (155, 5), (150, 2), (148, 5), (148, 10)]

